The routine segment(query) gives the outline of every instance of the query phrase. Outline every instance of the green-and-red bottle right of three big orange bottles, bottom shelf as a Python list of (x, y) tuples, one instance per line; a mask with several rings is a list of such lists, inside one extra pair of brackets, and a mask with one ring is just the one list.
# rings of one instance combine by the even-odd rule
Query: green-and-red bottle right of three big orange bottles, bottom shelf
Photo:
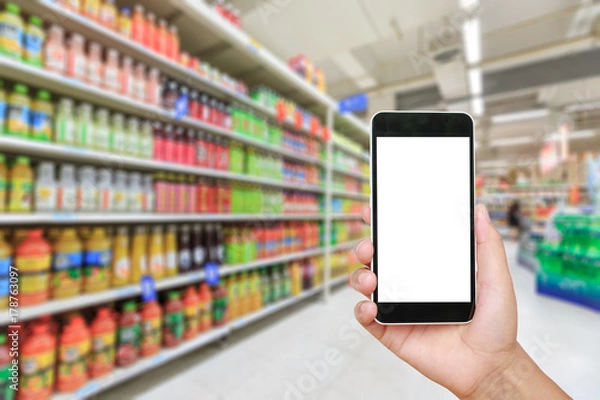
[(135, 302), (128, 301), (123, 305), (123, 312), (119, 318), (117, 328), (117, 356), (116, 363), (126, 367), (135, 363), (139, 355), (140, 343), (140, 316)]

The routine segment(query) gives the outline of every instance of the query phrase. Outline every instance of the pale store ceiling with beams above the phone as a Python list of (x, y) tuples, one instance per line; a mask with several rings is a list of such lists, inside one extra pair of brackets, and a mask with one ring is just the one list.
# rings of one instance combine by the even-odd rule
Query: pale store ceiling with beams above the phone
[[(284, 60), (304, 54), (322, 68), (334, 97), (366, 92), (367, 117), (382, 108), (470, 111), (462, 32), (467, 14), (459, 0), (429, 0), (427, 6), (422, 0), (232, 3), (244, 29), (265, 47)], [(565, 113), (573, 131), (600, 128), (600, 1), (480, 0), (474, 15), (481, 26), (482, 169), (490, 161), (509, 167), (537, 156), (545, 137), (540, 132), (556, 130), (557, 116)], [(460, 51), (451, 62), (435, 61), (454, 48)], [(492, 121), (531, 109), (548, 115)], [(596, 136), (583, 136), (571, 148), (598, 144)]]

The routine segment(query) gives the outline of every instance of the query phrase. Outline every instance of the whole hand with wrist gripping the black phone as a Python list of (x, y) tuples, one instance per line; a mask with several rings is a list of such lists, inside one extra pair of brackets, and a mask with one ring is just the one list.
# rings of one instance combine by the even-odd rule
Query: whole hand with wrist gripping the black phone
[[(370, 225), (370, 209), (365, 207), (362, 214)], [(471, 323), (380, 325), (371, 301), (356, 305), (356, 319), (399, 358), (459, 398), (569, 398), (517, 342), (517, 302), (504, 244), (482, 205), (476, 210), (476, 237), (478, 299)], [(355, 252), (370, 266), (369, 240), (361, 241)], [(370, 298), (377, 277), (361, 268), (351, 284)]]

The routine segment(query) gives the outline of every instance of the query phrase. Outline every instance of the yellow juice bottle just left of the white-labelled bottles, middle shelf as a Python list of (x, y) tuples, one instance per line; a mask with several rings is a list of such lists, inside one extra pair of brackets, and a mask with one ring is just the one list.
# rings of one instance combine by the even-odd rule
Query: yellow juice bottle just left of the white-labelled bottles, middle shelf
[(10, 169), (8, 211), (31, 212), (33, 203), (33, 170), (29, 157), (17, 157)]

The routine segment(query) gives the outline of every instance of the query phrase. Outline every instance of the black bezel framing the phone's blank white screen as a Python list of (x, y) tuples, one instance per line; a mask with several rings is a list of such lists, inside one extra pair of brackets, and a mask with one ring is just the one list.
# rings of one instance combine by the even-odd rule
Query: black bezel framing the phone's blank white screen
[(379, 303), (376, 321), (381, 324), (460, 324), (472, 320), (476, 304), (475, 149), (474, 122), (467, 113), (442, 111), (381, 111), (371, 119), (371, 239), (377, 275), (377, 138), (468, 137), (470, 154), (471, 301), (468, 303)]

